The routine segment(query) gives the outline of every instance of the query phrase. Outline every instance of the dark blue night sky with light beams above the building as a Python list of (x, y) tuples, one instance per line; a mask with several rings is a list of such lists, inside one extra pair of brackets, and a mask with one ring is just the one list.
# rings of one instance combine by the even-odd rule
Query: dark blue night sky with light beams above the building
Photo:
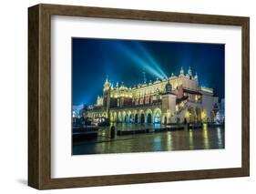
[(147, 80), (187, 74), (189, 66), (198, 73), (200, 85), (213, 87), (224, 97), (225, 46), (222, 44), (72, 38), (73, 105), (94, 104), (102, 95), (104, 81), (134, 86)]

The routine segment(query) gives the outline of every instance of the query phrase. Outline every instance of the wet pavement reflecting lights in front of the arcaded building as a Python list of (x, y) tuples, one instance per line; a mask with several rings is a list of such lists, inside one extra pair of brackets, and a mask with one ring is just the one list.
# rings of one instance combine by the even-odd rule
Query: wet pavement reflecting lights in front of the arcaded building
[(170, 150), (216, 149), (224, 148), (225, 130), (214, 127), (181, 129), (167, 132), (154, 132), (160, 125), (119, 124), (116, 130), (149, 128), (150, 133), (109, 137), (109, 127), (101, 128), (94, 140), (85, 140), (73, 144), (73, 155), (130, 153)]

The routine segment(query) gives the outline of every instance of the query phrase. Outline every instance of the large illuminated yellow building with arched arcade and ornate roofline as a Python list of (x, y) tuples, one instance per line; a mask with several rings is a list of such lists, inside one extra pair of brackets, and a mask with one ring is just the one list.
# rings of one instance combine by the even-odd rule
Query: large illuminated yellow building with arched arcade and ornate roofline
[(212, 88), (199, 86), (199, 77), (190, 67), (187, 74), (181, 67), (178, 76), (144, 81), (137, 87), (123, 83), (114, 87), (107, 78), (103, 95), (97, 97), (96, 105), (84, 109), (83, 115), (119, 123), (214, 122), (218, 100)]

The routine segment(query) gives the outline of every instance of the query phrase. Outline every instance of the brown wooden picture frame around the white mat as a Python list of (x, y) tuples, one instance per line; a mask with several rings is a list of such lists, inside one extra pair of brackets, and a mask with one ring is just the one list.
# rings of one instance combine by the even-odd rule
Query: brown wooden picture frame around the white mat
[[(241, 168), (201, 169), (79, 178), (51, 178), (51, 15), (241, 26), (242, 153)], [(28, 185), (60, 189), (189, 179), (243, 177), (250, 174), (250, 19), (73, 5), (28, 8)]]

